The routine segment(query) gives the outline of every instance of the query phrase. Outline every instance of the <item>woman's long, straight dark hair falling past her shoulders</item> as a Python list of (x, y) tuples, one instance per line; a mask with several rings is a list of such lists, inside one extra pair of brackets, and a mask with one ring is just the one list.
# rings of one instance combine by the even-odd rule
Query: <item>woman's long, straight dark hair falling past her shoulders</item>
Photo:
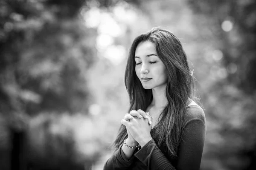
[[(168, 104), (160, 113), (159, 121), (151, 130), (152, 138), (158, 147), (167, 148), (169, 155), (177, 158), (177, 149), (183, 133), (186, 107), (189, 98), (194, 96), (194, 77), (189, 70), (186, 53), (180, 40), (163, 28), (152, 28), (136, 37), (131, 45), (125, 70), (125, 86), (130, 98), (131, 110), (146, 110), (153, 96), (151, 89), (144, 89), (135, 72), (135, 50), (140, 42), (150, 41), (155, 44), (157, 55), (167, 71), (166, 98)], [(121, 125), (115, 140), (115, 148), (127, 138), (127, 131)]]

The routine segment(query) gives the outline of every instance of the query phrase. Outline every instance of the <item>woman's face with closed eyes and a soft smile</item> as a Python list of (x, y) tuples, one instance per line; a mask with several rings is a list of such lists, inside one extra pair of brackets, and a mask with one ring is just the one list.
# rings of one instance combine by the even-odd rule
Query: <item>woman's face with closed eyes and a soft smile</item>
[(144, 41), (137, 45), (135, 51), (135, 71), (143, 88), (165, 88), (167, 84), (166, 68), (157, 55), (153, 42)]

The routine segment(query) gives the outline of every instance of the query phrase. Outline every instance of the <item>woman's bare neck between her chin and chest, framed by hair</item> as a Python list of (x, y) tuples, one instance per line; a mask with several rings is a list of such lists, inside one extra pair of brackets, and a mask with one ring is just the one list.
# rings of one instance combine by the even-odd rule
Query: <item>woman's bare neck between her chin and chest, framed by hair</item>
[(151, 102), (151, 107), (154, 108), (164, 108), (168, 101), (166, 98), (166, 85), (162, 87), (157, 87), (152, 89), (153, 100)]

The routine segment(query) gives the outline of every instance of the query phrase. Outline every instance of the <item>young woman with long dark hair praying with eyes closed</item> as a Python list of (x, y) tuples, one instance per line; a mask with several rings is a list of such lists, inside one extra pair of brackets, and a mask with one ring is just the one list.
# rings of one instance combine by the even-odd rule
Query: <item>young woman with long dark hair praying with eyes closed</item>
[(177, 37), (162, 28), (136, 37), (125, 85), (130, 112), (104, 169), (199, 170), (206, 120), (193, 101), (193, 75)]

